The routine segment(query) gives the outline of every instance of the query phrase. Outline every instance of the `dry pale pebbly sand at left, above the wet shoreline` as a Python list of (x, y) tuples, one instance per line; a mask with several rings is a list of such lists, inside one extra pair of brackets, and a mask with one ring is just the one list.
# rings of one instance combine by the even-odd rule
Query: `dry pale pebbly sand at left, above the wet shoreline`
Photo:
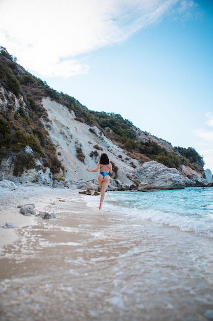
[(0, 193), (0, 226), (5, 226), (7, 222), (16, 226), (15, 228), (0, 227), (0, 246), (16, 242), (19, 239), (17, 230), (24, 226), (33, 226), (38, 219), (35, 215), (22, 215), (19, 212), (20, 206), (34, 204), (36, 214), (43, 211), (57, 212), (63, 210), (63, 207), (69, 207), (70, 202), (72, 207), (75, 207), (74, 199), (82, 197), (79, 190), (55, 189), (34, 184), (19, 186), (13, 190), (0, 187)]

